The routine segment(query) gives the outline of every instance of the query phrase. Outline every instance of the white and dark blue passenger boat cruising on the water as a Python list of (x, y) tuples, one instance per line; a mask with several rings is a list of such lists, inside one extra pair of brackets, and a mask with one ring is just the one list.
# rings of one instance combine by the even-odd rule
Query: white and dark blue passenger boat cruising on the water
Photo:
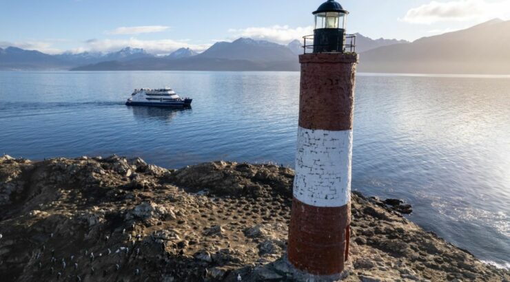
[(181, 98), (170, 87), (162, 89), (134, 89), (131, 98), (125, 102), (128, 106), (152, 107), (191, 107), (191, 98)]

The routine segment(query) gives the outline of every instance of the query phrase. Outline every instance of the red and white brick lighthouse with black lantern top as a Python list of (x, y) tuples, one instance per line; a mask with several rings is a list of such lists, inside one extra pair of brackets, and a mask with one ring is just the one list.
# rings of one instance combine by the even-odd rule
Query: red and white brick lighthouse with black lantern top
[[(349, 254), (356, 37), (347, 10), (315, 12), (301, 64), (298, 145), (287, 259), (310, 276), (338, 279)], [(326, 279), (327, 280), (327, 279)]]

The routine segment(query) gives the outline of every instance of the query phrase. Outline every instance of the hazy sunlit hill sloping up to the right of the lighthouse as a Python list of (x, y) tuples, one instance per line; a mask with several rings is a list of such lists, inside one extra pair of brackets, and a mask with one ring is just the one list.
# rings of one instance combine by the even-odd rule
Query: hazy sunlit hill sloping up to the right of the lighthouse
[(360, 54), (360, 72), (510, 74), (510, 21), (378, 47)]

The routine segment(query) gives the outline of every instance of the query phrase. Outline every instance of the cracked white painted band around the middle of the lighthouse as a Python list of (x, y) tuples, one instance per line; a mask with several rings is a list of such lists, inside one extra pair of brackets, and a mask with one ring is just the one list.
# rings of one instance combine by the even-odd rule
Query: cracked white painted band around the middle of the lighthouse
[(310, 206), (345, 206), (351, 196), (352, 130), (298, 128), (294, 197)]

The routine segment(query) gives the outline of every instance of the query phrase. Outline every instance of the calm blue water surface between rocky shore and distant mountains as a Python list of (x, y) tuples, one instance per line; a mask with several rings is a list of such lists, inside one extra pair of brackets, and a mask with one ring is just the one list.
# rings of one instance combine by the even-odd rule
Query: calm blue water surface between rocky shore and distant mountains
[[(193, 109), (123, 105), (167, 85)], [(297, 72), (0, 72), (0, 153), (293, 166), (298, 94)], [(510, 78), (359, 74), (355, 114), (355, 190), (510, 267)]]

